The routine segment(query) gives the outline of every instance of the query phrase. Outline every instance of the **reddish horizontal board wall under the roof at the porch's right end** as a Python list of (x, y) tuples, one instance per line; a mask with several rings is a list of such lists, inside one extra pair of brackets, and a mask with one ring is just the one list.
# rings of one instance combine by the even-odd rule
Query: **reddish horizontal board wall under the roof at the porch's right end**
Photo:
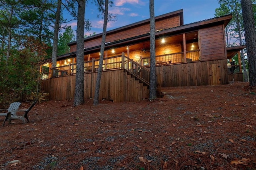
[(227, 58), (223, 25), (198, 30), (201, 60), (220, 60)]

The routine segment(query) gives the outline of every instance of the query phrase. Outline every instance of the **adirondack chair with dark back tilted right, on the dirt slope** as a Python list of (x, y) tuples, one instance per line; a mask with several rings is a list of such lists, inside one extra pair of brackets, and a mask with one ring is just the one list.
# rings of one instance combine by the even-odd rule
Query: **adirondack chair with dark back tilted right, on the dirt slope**
[[(22, 116), (18, 116), (18, 115), (12, 115), (11, 112), (7, 113), (6, 118), (4, 119), (4, 123), (7, 119), (9, 119), (9, 124), (11, 123), (12, 119), (16, 119), (16, 120), (22, 120), (23, 124), (26, 124), (26, 120), (29, 122), (28, 120), (28, 112), (32, 109), (32, 107), (36, 104), (36, 102), (33, 102), (31, 104), (31, 106), (28, 109), (20, 109), (20, 110), (14, 110), (15, 112), (24, 112), (24, 114)], [(2, 126), (4, 126), (4, 123)]]

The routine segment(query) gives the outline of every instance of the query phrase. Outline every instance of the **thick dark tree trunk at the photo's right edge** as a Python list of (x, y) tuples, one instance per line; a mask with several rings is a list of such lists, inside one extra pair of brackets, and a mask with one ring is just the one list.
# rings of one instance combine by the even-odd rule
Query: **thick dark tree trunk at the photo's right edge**
[(242, 14), (244, 18), (244, 36), (249, 66), (250, 86), (256, 86), (256, 32), (252, 12), (252, 1), (241, 0)]

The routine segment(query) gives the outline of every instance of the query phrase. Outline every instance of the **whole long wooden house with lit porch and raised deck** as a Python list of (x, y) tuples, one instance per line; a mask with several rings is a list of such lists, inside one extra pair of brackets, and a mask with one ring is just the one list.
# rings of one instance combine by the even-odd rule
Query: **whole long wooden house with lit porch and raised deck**
[[(226, 48), (226, 15), (184, 25), (183, 10), (155, 17), (156, 75), (161, 87), (228, 84), (242, 81), (241, 64), (228, 65), (245, 46)], [(84, 38), (84, 96), (94, 96), (102, 34)], [(150, 20), (143, 20), (106, 33), (100, 99), (114, 102), (148, 98), (150, 72)], [(76, 42), (70, 53), (58, 56), (57, 67), (42, 68), (41, 89), (51, 100), (74, 98)], [(238, 70), (235, 75), (235, 69)], [(57, 70), (53, 74), (52, 70)], [(55, 73), (56, 73), (55, 72)], [(231, 76), (230, 76), (231, 75)]]

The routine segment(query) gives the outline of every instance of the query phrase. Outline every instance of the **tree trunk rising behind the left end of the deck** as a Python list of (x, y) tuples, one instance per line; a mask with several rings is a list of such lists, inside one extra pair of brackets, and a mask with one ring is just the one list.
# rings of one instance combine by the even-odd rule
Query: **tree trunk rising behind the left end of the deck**
[(56, 62), (57, 62), (58, 35), (59, 35), (59, 29), (60, 29), (60, 10), (61, 10), (61, 0), (58, 0), (57, 10), (55, 14), (54, 36), (53, 36), (53, 43), (52, 43), (52, 67), (56, 67)]

